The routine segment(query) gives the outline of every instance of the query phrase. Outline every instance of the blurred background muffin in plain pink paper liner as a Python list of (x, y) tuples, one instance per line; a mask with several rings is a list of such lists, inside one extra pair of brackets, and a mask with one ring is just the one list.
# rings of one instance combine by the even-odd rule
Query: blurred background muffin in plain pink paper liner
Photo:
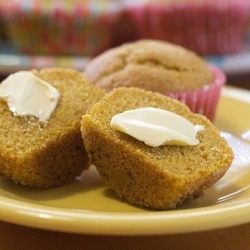
[(202, 55), (235, 53), (244, 44), (248, 0), (124, 2), (140, 39), (176, 43)]

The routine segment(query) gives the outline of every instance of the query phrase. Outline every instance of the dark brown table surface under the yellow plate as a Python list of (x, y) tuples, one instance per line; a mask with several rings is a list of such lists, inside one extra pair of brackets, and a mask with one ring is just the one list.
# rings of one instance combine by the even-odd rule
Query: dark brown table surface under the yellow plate
[[(250, 90), (250, 74), (228, 76), (228, 84)], [(17, 223), (18, 224), (18, 223)], [(0, 250), (22, 249), (250, 249), (250, 223), (181, 235), (96, 236), (29, 228), (0, 221)]]

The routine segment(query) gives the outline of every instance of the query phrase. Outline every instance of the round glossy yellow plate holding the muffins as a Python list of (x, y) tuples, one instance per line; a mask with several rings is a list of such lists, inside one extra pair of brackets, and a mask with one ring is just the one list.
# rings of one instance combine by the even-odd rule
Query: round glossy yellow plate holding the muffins
[(176, 210), (131, 206), (117, 198), (91, 169), (81, 181), (49, 190), (0, 179), (0, 219), (41, 229), (102, 235), (185, 233), (250, 222), (249, 114), (250, 91), (224, 88), (215, 123), (233, 147), (235, 160), (204, 197)]

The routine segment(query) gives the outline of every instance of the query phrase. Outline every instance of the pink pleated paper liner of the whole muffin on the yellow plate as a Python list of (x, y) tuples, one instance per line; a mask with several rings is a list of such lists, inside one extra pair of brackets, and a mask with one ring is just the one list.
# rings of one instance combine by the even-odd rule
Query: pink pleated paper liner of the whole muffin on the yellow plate
[(213, 121), (221, 89), (226, 83), (226, 76), (215, 65), (209, 64), (209, 68), (214, 76), (212, 83), (194, 91), (166, 93), (166, 95), (185, 103), (192, 112), (205, 115)]

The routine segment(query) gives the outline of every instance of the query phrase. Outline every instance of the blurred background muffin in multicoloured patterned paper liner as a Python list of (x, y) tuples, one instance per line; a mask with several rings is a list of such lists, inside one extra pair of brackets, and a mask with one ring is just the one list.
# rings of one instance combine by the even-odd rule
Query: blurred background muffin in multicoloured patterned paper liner
[(120, 5), (118, 0), (11, 0), (2, 4), (2, 13), (17, 52), (94, 56), (112, 46)]

